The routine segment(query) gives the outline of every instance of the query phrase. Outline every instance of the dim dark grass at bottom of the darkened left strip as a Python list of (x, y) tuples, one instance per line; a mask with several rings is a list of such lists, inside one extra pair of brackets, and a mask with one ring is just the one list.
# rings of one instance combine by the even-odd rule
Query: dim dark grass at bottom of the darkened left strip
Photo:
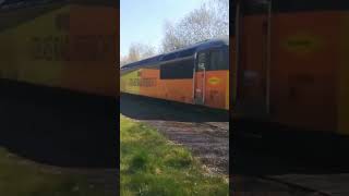
[(0, 195), (5, 196), (101, 196), (103, 187), (93, 187), (77, 174), (44, 171), (39, 166), (0, 148)]

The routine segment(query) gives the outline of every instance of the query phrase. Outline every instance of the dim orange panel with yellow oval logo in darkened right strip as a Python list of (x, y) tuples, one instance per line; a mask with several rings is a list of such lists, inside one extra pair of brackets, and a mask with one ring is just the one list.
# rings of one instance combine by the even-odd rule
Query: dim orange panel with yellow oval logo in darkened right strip
[(274, 120), (335, 131), (338, 13), (277, 14), (272, 24)]

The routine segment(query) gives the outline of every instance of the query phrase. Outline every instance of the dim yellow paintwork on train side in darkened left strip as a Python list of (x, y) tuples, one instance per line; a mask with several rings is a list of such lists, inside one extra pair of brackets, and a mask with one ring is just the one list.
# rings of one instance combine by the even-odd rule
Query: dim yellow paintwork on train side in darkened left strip
[(5, 52), (8, 54), (3, 56), (1, 60), (2, 77), (49, 86), (60, 85), (63, 79), (61, 75), (62, 62), (36, 60), (33, 56), (34, 38), (68, 35), (59, 32), (55, 26), (56, 16), (65, 12), (69, 12), (69, 7), (46, 13), (0, 33), (0, 42), (3, 46), (0, 47), (0, 51), (8, 49)]

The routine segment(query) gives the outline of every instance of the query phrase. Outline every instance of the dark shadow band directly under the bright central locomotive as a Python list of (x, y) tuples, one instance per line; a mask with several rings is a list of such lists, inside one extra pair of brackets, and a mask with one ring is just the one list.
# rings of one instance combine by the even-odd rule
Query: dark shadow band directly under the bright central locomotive
[(228, 122), (225, 110), (185, 105), (174, 101), (121, 94), (120, 112), (136, 120), (160, 120), (177, 122)]

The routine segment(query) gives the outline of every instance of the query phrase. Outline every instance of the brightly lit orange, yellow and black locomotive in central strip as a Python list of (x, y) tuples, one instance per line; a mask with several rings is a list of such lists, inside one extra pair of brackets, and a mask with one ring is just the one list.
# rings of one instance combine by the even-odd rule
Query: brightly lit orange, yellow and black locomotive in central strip
[(229, 38), (205, 40), (121, 68), (120, 91), (229, 109)]

